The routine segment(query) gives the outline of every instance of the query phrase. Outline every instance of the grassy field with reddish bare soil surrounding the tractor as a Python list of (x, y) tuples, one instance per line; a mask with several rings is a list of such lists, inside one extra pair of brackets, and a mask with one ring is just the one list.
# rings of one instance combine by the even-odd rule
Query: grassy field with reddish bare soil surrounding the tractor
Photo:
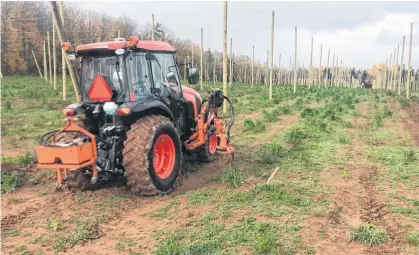
[(55, 191), (33, 150), (62, 126), (60, 97), (2, 80), (3, 254), (419, 254), (418, 95), (275, 86), (269, 101), (233, 84), (235, 162), (185, 159), (182, 186), (157, 197)]

